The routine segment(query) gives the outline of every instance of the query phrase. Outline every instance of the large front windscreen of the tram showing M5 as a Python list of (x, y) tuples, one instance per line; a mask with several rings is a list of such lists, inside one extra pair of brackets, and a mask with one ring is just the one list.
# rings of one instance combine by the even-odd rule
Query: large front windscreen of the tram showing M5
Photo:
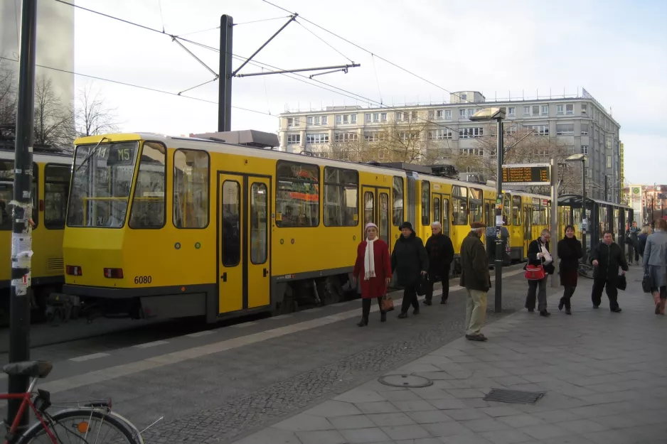
[(68, 227), (121, 228), (125, 223), (139, 142), (77, 146)]

